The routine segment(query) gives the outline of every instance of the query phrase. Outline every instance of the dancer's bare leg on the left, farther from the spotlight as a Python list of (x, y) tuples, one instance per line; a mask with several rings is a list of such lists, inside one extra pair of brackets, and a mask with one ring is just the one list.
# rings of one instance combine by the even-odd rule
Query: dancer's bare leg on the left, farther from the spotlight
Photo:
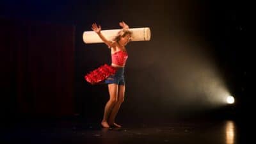
[(109, 113), (112, 110), (115, 103), (117, 102), (118, 85), (108, 84), (108, 91), (109, 91), (109, 100), (106, 103), (103, 120), (101, 122), (102, 127), (106, 127), (106, 128), (109, 127), (109, 124), (108, 124)]

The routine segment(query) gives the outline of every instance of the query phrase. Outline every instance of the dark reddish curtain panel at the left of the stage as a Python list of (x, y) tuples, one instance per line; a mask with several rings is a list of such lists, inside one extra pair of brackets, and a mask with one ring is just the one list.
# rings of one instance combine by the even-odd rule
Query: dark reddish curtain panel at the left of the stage
[(0, 19), (2, 116), (73, 113), (74, 26)]

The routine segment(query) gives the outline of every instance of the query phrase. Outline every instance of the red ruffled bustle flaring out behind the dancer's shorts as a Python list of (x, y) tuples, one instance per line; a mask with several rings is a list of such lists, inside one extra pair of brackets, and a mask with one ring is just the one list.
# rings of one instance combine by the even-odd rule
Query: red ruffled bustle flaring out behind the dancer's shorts
[(90, 84), (99, 84), (100, 82), (107, 79), (110, 75), (115, 74), (115, 72), (115, 67), (105, 64), (86, 74), (84, 79)]

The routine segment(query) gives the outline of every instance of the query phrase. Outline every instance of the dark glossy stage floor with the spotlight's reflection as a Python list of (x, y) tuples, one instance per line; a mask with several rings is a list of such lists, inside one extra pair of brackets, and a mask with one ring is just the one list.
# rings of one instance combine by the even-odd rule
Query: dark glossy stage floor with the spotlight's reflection
[[(234, 120), (123, 123), (102, 129), (83, 120), (22, 122), (5, 125), (1, 143), (248, 143), (248, 131)], [(246, 130), (246, 131), (245, 131)]]

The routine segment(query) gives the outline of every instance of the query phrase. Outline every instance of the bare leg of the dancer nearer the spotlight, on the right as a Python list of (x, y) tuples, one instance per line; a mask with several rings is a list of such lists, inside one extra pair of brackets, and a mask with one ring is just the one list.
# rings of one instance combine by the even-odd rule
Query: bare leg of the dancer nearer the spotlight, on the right
[(116, 118), (116, 114), (118, 113), (118, 110), (122, 104), (122, 102), (124, 102), (124, 92), (125, 92), (125, 86), (124, 85), (119, 85), (118, 86), (118, 99), (117, 102), (115, 103), (115, 105), (113, 106), (113, 109), (109, 115), (109, 125), (111, 126), (115, 126), (115, 127), (121, 127), (121, 125), (118, 125), (115, 123), (115, 118)]

